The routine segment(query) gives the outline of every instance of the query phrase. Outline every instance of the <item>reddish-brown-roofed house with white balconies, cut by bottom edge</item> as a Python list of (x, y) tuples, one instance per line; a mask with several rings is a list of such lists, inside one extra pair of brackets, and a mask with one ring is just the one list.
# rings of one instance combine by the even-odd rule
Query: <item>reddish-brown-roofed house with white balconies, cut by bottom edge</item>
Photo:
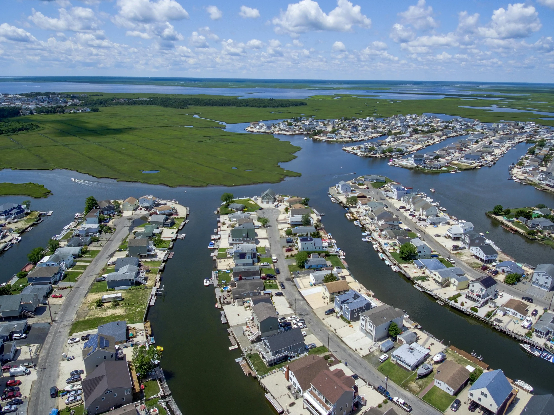
[(356, 381), (342, 369), (324, 370), (311, 381), (302, 398), (313, 415), (346, 415), (353, 410), (356, 392)]

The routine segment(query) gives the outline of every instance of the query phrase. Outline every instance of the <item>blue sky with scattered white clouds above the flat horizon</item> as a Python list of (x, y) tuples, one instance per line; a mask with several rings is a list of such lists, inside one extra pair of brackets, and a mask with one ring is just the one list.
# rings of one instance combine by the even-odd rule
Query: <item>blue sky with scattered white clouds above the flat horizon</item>
[(0, 0), (0, 76), (554, 82), (554, 0)]

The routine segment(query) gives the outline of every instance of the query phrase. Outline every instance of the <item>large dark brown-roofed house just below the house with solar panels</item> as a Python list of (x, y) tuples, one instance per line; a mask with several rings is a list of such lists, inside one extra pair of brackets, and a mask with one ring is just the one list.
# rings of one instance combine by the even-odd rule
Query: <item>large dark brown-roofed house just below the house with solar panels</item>
[[(84, 378), (82, 385), (84, 407), (89, 415), (133, 402), (133, 382), (125, 360), (102, 362)], [(133, 410), (136, 412), (135, 408)]]

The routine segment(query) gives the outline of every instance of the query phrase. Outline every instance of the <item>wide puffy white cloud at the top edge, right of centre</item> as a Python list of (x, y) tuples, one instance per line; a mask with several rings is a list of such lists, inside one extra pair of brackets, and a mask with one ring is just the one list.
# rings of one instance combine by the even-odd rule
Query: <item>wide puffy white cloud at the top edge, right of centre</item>
[(362, 14), (360, 6), (354, 6), (348, 0), (338, 0), (337, 7), (329, 14), (322, 11), (319, 4), (313, 0), (302, 0), (289, 4), (285, 12), (273, 19), (277, 32), (300, 34), (314, 30), (329, 30), (332, 32), (351, 32), (352, 27), (371, 27), (371, 19)]

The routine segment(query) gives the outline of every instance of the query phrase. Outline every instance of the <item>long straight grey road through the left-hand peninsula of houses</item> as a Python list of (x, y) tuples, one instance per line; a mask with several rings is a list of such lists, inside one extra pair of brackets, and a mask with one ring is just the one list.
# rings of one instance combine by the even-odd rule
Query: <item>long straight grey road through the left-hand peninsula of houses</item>
[[(109, 258), (117, 251), (124, 238), (129, 235), (132, 222), (138, 217), (140, 216), (121, 217), (115, 221), (116, 231), (102, 247), (102, 251), (98, 256), (85, 269), (79, 281), (69, 290), (60, 310), (55, 315), (55, 320), (40, 351), (37, 363), (38, 378), (33, 383), (30, 392), (29, 415), (47, 415), (54, 408), (57, 401), (50, 398), (50, 387), (55, 386), (58, 381), (61, 354), (77, 310), (94, 283), (94, 279), (104, 268)], [(66, 290), (64, 295), (67, 292)]]

